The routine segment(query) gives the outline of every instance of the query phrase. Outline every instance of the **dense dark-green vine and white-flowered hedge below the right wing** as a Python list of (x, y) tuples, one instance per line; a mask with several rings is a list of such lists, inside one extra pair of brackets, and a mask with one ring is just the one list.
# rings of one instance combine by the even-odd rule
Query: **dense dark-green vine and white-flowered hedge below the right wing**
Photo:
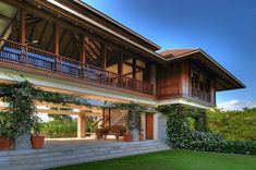
[[(158, 107), (158, 110), (167, 117), (167, 135), (173, 148), (256, 155), (255, 142), (229, 142), (219, 134), (206, 132), (203, 109), (186, 105), (166, 105)], [(191, 129), (186, 118), (196, 119), (197, 130)]]

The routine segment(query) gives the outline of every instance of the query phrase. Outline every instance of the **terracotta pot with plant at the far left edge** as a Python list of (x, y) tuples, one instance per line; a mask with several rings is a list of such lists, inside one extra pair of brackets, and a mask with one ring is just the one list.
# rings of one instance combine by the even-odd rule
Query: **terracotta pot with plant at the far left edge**
[(0, 150), (9, 150), (12, 146), (12, 123), (10, 112), (0, 111)]

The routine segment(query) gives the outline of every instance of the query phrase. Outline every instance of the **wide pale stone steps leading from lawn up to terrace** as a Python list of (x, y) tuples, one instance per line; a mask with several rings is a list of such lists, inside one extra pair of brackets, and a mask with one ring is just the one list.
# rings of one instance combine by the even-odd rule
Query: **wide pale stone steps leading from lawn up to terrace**
[(36, 170), (170, 149), (157, 141), (76, 144), (0, 153), (1, 170)]

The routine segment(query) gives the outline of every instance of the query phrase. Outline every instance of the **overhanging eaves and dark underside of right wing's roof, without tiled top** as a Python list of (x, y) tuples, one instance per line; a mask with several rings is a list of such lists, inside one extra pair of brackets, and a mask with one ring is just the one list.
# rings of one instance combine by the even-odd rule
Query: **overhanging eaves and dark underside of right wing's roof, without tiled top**
[(202, 49), (195, 49), (191, 52), (186, 52), (184, 54), (180, 54), (166, 60), (168, 61), (168, 63), (172, 63), (185, 59), (199, 61), (204, 64), (204, 68), (207, 68), (208, 70), (214, 72), (216, 75), (216, 86), (218, 92), (246, 87), (239, 78), (236, 78), (233, 74), (231, 74), (228, 70), (225, 70), (221, 64), (219, 64), (215, 59), (212, 59)]

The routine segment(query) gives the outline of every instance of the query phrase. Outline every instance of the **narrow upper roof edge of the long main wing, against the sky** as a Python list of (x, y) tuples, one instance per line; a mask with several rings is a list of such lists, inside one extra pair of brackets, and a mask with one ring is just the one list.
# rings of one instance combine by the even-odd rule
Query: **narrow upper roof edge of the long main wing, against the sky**
[(82, 0), (73, 0), (73, 2), (80, 4), (80, 5), (82, 5), (83, 8), (86, 8), (87, 10), (92, 11), (93, 13), (95, 13), (95, 14), (97, 14), (97, 15), (103, 17), (105, 20), (111, 22), (112, 24), (117, 25), (118, 27), (120, 27), (120, 28), (122, 28), (122, 29), (129, 32), (130, 34), (132, 34), (132, 35), (136, 36), (137, 38), (144, 40), (145, 42), (149, 44), (150, 46), (154, 46), (156, 49), (159, 50), (159, 49), (161, 48), (160, 46), (156, 45), (156, 44), (153, 42), (151, 40), (145, 38), (144, 36), (139, 35), (139, 34), (137, 34), (136, 32), (134, 32), (134, 31), (132, 31), (131, 28), (124, 26), (123, 24), (119, 23), (118, 21), (113, 20), (112, 17), (110, 17), (110, 16), (103, 14), (102, 12), (96, 10), (95, 8), (90, 7), (89, 4), (83, 2)]

